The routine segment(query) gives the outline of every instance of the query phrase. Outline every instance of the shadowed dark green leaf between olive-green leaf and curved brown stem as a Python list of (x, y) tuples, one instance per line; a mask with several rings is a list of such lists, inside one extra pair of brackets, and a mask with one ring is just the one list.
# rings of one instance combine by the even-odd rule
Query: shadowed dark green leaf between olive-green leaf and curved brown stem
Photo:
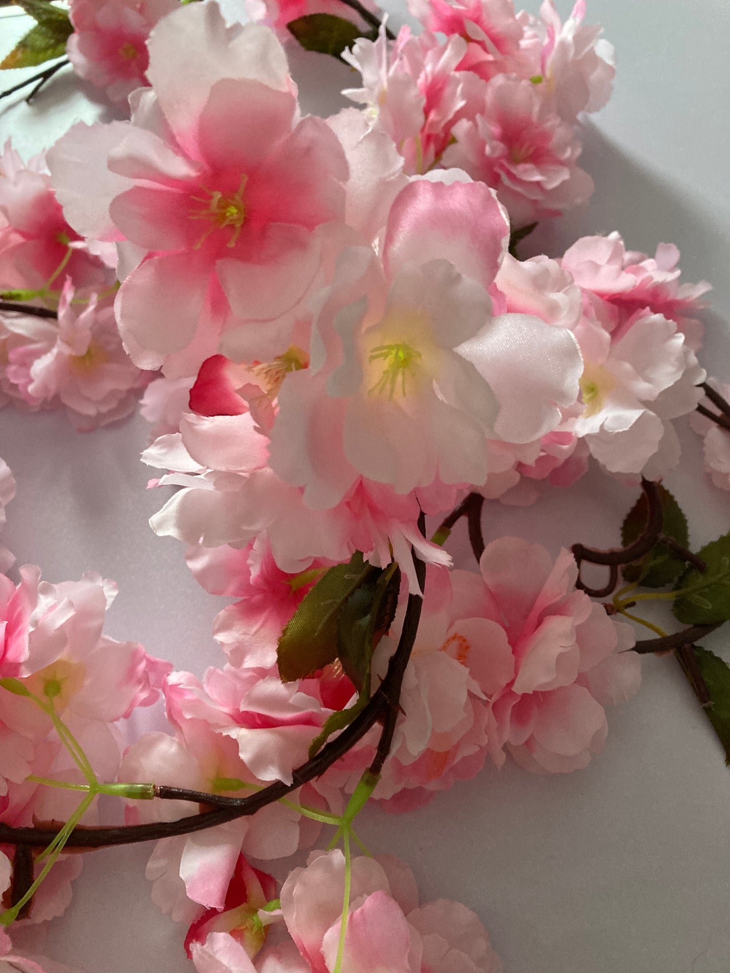
[(358, 693), (370, 699), (373, 652), (398, 607), (400, 570), (380, 573), (347, 598), (337, 620), (337, 655)]

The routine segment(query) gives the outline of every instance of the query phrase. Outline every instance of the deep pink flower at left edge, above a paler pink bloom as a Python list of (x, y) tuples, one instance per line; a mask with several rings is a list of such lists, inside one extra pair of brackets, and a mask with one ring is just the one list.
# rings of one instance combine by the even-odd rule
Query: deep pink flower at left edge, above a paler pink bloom
[(0, 290), (38, 290), (63, 272), (77, 287), (102, 288), (112, 281), (102, 262), (66, 222), (45, 161), (23, 166), (10, 142), (0, 156)]

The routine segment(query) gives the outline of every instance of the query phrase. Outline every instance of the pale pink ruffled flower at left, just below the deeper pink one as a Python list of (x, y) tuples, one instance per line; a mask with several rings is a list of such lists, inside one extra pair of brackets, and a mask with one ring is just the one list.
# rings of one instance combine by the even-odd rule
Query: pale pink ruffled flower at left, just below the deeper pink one
[(45, 321), (36, 341), (11, 350), (6, 375), (31, 406), (60, 402), (76, 428), (88, 431), (130, 414), (150, 374), (129, 360), (111, 303), (75, 294), (67, 278), (57, 325)]

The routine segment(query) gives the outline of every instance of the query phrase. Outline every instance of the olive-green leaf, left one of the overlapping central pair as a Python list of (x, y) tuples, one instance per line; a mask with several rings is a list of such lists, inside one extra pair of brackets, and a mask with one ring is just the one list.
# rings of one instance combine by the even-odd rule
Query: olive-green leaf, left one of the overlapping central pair
[(278, 640), (276, 660), (284, 682), (304, 679), (337, 659), (337, 619), (347, 598), (379, 568), (366, 566), (356, 551), (336, 564), (304, 596)]

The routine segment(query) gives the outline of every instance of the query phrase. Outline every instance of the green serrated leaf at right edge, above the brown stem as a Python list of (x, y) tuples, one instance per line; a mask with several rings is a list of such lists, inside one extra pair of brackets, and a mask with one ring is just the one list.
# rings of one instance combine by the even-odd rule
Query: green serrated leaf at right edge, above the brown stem
[[(697, 552), (706, 573), (688, 567), (675, 584), (675, 618), (687, 625), (712, 625), (730, 619), (730, 533)], [(689, 591), (687, 591), (689, 589)]]

